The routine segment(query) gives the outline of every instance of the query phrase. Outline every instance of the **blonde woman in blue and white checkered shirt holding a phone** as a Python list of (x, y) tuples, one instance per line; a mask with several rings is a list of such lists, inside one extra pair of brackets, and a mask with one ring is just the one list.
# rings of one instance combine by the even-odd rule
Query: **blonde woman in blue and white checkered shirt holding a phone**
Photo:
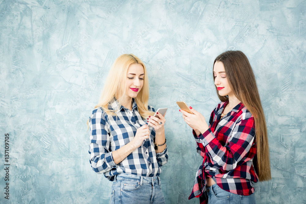
[(119, 56), (88, 121), (91, 167), (114, 182), (110, 203), (165, 203), (159, 174), (168, 160), (166, 119), (153, 117), (148, 100), (146, 66), (133, 54)]

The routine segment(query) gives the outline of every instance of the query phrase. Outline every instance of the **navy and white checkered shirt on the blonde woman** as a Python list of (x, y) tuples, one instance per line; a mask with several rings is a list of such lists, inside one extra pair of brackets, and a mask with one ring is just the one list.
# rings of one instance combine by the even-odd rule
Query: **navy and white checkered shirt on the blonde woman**
[[(134, 139), (136, 131), (147, 124), (138, 113), (137, 104), (133, 100), (132, 111), (121, 106), (118, 108), (116, 101), (109, 105), (109, 109), (115, 110), (117, 116), (107, 116), (103, 109), (97, 108), (89, 117), (90, 127), (90, 164), (92, 169), (113, 181), (114, 176), (119, 173), (129, 173), (138, 176), (158, 176), (160, 167), (167, 163), (168, 150), (155, 153), (153, 139), (154, 128), (150, 128), (150, 139), (119, 164), (115, 164), (112, 151), (118, 150)], [(154, 108), (148, 109), (155, 112)]]

